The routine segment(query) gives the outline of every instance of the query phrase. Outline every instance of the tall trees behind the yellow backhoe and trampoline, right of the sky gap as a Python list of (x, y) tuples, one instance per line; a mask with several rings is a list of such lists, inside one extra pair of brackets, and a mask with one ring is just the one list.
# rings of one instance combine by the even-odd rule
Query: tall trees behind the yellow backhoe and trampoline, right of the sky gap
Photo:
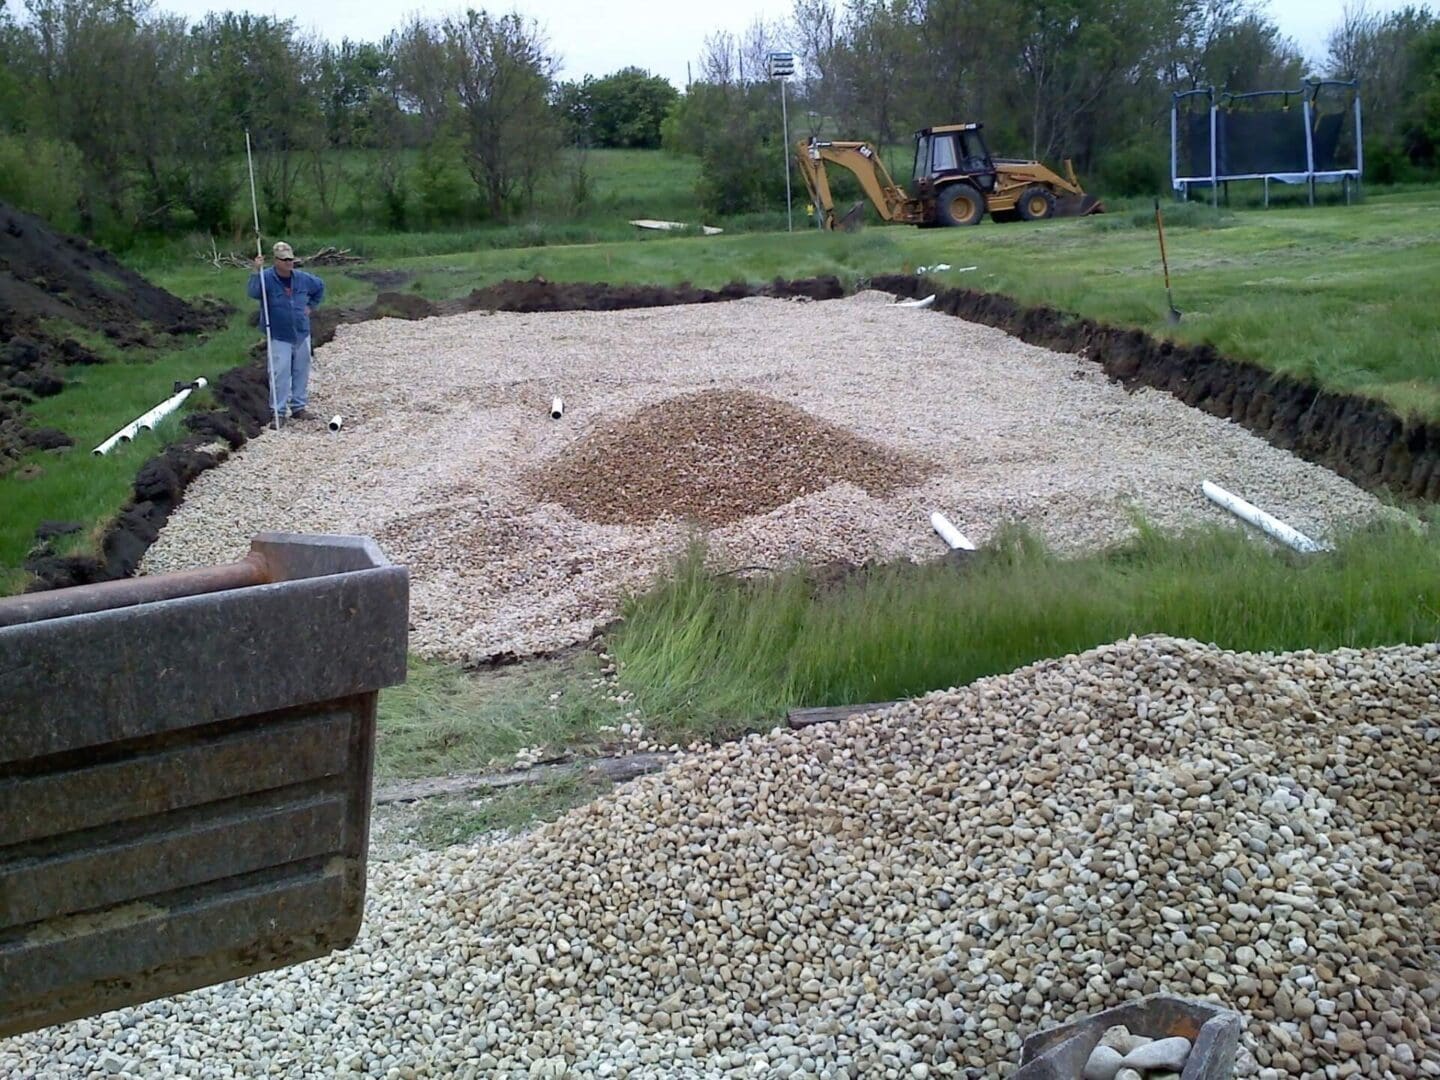
[(890, 145), (982, 121), (998, 154), (1074, 158), (1109, 194), (1168, 184), (1171, 95), (1210, 86), (1359, 79), (1367, 174), (1440, 164), (1440, 20), (1427, 7), (1349, 6), (1326, 55), (1308, 60), (1247, 0), (793, 0), (783, 24), (713, 35), (668, 121), (668, 145), (701, 156), (704, 193), (726, 210), (783, 186), (765, 58), (785, 48), (802, 71), (792, 132)]

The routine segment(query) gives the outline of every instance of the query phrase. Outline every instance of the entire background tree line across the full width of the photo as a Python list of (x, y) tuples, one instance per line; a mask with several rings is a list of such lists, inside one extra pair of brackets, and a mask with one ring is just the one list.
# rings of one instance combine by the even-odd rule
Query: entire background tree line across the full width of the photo
[(1358, 76), (1380, 179), (1433, 167), (1440, 144), (1427, 7), (1346, 9), (1316, 66), (1247, 0), (793, 0), (779, 23), (711, 35), (680, 92), (642, 68), (562, 81), (541, 29), (514, 13), (412, 16), (383, 40), (333, 43), (245, 13), (0, 0), (0, 199), (117, 243), (235, 235), (248, 131), (271, 233), (505, 220), (567, 148), (580, 210), (589, 147), (696, 154), (708, 213), (773, 209), (776, 49), (801, 68), (792, 138), (894, 144), (982, 120), (996, 150), (1073, 157), (1117, 193), (1162, 186), (1178, 88)]

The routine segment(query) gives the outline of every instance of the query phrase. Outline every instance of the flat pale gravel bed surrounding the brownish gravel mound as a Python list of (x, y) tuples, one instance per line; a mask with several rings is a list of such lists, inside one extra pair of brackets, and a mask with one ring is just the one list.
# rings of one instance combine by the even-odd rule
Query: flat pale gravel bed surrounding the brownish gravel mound
[[(716, 527), (714, 557), (732, 566), (939, 557), (933, 510), (979, 543), (1024, 521), (1066, 552), (1126, 536), (1136, 508), (1162, 527), (1233, 520), (1204, 500), (1202, 480), (1320, 536), (1378, 508), (1328, 469), (1166, 395), (1128, 393), (1074, 356), (863, 292), (341, 325), (317, 353), (317, 419), (200, 477), (143, 569), (228, 562), (264, 530), (364, 533), (413, 570), (418, 651), (553, 651), (608, 622), (693, 526), (586, 521), (540, 500), (536, 471), (704, 390), (762, 395), (933, 467), (888, 494), (840, 471)], [(560, 422), (549, 419), (556, 395)], [(338, 435), (325, 431), (331, 413), (346, 416)], [(749, 480), (776, 481), (766, 469)]]

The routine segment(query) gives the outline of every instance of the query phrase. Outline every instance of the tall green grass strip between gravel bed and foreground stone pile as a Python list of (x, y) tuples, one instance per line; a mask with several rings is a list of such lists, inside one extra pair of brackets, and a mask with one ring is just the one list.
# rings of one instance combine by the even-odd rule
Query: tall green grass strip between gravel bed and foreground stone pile
[(1434, 641), (1440, 536), (1377, 527), (1305, 559), (1233, 528), (1142, 528), (1061, 560), (1012, 531), (963, 570), (900, 564), (819, 589), (802, 572), (713, 576), (696, 547), (626, 603), (609, 641), (657, 733), (683, 737), (963, 685), (1130, 634), (1244, 651)]

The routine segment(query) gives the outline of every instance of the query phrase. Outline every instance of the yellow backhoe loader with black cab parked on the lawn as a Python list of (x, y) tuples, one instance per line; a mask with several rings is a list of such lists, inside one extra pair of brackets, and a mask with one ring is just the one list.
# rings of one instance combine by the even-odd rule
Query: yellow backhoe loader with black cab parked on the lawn
[(1066, 176), (1061, 177), (1040, 161), (992, 157), (982, 127), (948, 124), (914, 132), (914, 194), (890, 179), (870, 143), (827, 143), (818, 138), (796, 143), (795, 157), (821, 228), (854, 228), (865, 209), (865, 203), (858, 202), (847, 215), (837, 217), (827, 164), (854, 173), (865, 197), (887, 222), (979, 225), (986, 212), (996, 222), (1035, 222), (1104, 212), (1104, 204), (1080, 187), (1070, 161), (1066, 161)]

